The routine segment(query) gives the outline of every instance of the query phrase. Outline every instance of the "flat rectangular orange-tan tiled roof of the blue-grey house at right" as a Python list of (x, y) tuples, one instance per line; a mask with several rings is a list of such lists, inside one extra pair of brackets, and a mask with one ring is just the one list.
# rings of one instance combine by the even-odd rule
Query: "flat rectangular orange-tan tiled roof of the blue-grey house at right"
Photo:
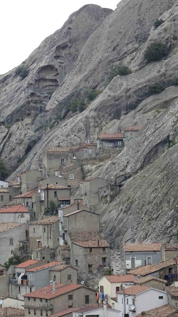
[(126, 243), (124, 251), (160, 251), (162, 243)]

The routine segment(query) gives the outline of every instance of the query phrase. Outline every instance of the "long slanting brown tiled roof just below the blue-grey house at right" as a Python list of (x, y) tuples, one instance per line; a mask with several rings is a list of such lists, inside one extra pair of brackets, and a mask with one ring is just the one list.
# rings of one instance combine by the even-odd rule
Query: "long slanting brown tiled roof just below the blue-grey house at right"
[(172, 258), (172, 259), (169, 259), (166, 261), (159, 262), (157, 264), (150, 264), (150, 265), (146, 265), (146, 266), (141, 266), (139, 268), (135, 268), (134, 270), (130, 270), (128, 272), (128, 274), (144, 276), (144, 275), (148, 275), (150, 273), (159, 271), (159, 270), (161, 270), (165, 267), (168, 267), (170, 265), (174, 265), (176, 263), (177, 263), (176, 258)]

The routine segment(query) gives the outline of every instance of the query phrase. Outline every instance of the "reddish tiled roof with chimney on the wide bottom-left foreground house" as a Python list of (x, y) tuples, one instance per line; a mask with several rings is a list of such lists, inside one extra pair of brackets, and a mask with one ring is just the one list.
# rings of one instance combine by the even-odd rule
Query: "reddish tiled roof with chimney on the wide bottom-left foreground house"
[(83, 287), (83, 286), (79, 284), (69, 284), (69, 285), (56, 284), (55, 291), (52, 291), (52, 286), (47, 286), (37, 291), (25, 294), (24, 297), (37, 297), (37, 298), (51, 299), (51, 298), (55, 298), (57, 296), (63, 295), (65, 293), (74, 291), (80, 287)]

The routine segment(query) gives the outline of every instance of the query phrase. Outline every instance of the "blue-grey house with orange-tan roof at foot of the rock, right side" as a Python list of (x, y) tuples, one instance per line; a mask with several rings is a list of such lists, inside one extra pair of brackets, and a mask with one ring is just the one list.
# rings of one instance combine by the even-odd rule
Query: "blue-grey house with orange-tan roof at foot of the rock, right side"
[(161, 260), (161, 243), (125, 243), (125, 269), (156, 264)]

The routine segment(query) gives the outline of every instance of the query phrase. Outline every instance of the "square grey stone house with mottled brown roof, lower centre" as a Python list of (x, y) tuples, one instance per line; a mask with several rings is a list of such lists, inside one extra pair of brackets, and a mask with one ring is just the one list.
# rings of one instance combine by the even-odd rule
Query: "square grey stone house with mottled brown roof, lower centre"
[(98, 232), (70, 232), (70, 263), (80, 274), (96, 273), (98, 268), (110, 266), (110, 245)]

